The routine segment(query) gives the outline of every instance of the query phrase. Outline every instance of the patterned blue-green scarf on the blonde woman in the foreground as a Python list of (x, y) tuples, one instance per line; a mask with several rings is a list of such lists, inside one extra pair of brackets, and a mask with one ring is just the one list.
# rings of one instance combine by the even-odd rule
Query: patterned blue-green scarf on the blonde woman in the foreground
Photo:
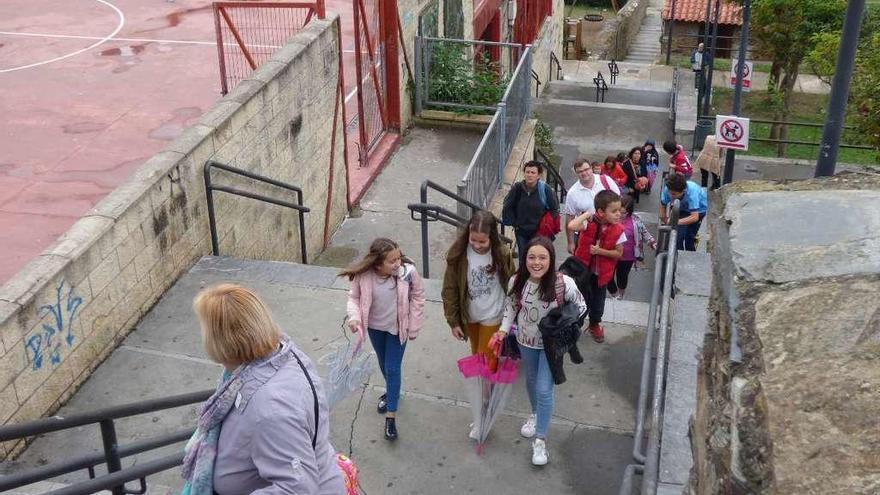
[(203, 405), (195, 433), (186, 444), (182, 474), (186, 483), (181, 495), (213, 495), (214, 460), (220, 440), (220, 425), (235, 405), (244, 381), (242, 375), (250, 366), (223, 372), (217, 390)]

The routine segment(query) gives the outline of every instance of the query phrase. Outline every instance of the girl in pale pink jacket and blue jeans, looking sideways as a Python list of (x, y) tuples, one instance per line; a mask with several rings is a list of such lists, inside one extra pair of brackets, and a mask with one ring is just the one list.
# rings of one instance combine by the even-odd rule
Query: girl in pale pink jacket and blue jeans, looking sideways
[(385, 238), (374, 240), (367, 255), (339, 276), (351, 281), (348, 326), (360, 335), (366, 329), (376, 350), (386, 390), (376, 409), (385, 415), (385, 439), (396, 440), (403, 353), (422, 328), (422, 277), (397, 243)]

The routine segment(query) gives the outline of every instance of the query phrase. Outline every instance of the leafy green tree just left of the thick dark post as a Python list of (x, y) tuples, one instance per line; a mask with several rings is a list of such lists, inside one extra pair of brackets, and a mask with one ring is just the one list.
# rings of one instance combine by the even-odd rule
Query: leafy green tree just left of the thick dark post
[[(815, 33), (840, 31), (845, 11), (846, 0), (754, 0), (754, 39), (773, 62), (767, 89), (768, 103), (776, 109), (774, 120), (789, 117), (791, 95), (801, 64), (815, 46)], [(770, 138), (787, 139), (788, 127), (774, 125)], [(785, 154), (784, 144), (777, 154)]]

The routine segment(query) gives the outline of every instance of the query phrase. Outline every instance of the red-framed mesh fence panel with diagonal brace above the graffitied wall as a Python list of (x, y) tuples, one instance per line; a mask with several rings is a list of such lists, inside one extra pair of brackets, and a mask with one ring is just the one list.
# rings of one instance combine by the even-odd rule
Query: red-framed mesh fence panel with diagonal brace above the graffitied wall
[(326, 15), (313, 2), (214, 2), (220, 87), (226, 94), (246, 79), (312, 18)]

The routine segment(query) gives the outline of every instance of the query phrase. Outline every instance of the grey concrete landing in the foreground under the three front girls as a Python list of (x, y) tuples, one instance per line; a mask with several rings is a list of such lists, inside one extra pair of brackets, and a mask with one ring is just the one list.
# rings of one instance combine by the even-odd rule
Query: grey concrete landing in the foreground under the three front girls
[[(309, 356), (319, 358), (328, 352), (328, 345), (344, 338), (341, 324), (347, 282), (335, 278), (335, 272), (329, 267), (203, 258), (58, 414), (212, 388), (220, 367), (203, 351), (190, 308), (201, 288), (223, 281), (257, 290), (281, 328)], [(556, 388), (548, 440), (551, 461), (537, 469), (529, 462), (528, 441), (519, 435), (529, 412), (522, 383), (515, 385), (485, 455), (474, 453), (467, 438), (471, 417), (467, 389), (456, 368), (456, 360), (468, 348), (449, 333), (442, 316), (439, 281), (428, 280), (426, 285), (425, 328), (409, 345), (404, 359), (398, 442), (389, 444), (381, 436), (383, 423), (374, 404), (383, 392), (383, 382), (377, 374), (361, 393), (341, 402), (332, 413), (332, 442), (358, 462), (365, 492), (616, 494), (621, 470), (630, 460), (644, 341), (644, 326), (632, 325), (631, 318), (646, 311), (646, 305), (609, 301), (606, 343), (585, 339), (581, 349), (586, 362), (566, 365), (569, 380)], [(191, 427), (195, 414), (196, 406), (190, 406), (120, 421), (120, 443)], [(16, 465), (6, 469), (37, 466), (99, 448), (97, 427), (78, 428), (35, 440)], [(146, 459), (129, 458), (125, 465)], [(85, 476), (76, 473), (53, 481), (69, 483)], [(176, 470), (154, 476), (150, 482), (170, 487), (172, 493), (181, 484)]]

